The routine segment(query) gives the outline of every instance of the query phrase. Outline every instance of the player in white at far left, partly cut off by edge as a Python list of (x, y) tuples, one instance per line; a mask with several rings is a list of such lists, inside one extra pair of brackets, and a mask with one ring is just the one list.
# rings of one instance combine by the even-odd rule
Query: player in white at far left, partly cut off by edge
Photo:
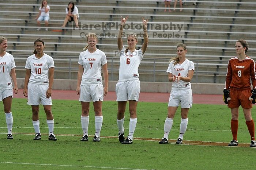
[[(12, 81), (14, 83), (14, 93), (18, 93), (18, 86), (15, 73), (14, 57), (6, 52), (7, 39), (0, 36), (0, 101), (3, 100), (5, 120), (7, 124), (7, 139), (13, 139), (12, 136)], [(12, 81), (11, 81), (12, 78)]]

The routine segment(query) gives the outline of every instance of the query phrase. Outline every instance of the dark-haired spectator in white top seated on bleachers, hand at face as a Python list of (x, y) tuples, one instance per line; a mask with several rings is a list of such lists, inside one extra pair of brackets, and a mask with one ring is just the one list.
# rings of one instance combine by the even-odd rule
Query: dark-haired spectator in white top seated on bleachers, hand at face
[(75, 6), (74, 2), (70, 1), (68, 3), (68, 7), (66, 8), (66, 13), (67, 13), (66, 18), (61, 27), (65, 27), (68, 22), (74, 21), (76, 28), (78, 28), (79, 14), (78, 14), (78, 8)]

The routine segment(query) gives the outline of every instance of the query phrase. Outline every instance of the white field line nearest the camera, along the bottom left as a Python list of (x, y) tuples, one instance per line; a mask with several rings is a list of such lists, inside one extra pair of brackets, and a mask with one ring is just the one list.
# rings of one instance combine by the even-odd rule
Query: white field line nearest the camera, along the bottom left
[(22, 162), (0, 162), (0, 163), (22, 164), (22, 165), (47, 165), (47, 166), (66, 166), (66, 167), (90, 167), (90, 168), (105, 168), (105, 169), (144, 170), (144, 169), (132, 169), (132, 168), (116, 168), (116, 167), (104, 167), (104, 166), (59, 165), (59, 164), (46, 164), (46, 163), (22, 163)]

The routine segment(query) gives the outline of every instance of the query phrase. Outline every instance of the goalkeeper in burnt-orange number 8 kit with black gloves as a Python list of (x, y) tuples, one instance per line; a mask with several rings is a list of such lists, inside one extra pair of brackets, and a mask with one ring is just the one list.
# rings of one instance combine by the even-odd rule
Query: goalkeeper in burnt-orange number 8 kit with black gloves
[[(255, 103), (256, 96), (256, 74), (255, 62), (245, 53), (248, 50), (248, 43), (245, 40), (236, 42), (237, 56), (229, 59), (223, 100), (231, 109), (231, 132), (233, 140), (229, 146), (237, 146), (238, 131), (238, 109), (243, 108), (246, 125), (251, 135), (251, 147), (256, 146), (254, 121), (252, 119), (252, 103)], [(253, 89), (251, 90), (251, 82)]]

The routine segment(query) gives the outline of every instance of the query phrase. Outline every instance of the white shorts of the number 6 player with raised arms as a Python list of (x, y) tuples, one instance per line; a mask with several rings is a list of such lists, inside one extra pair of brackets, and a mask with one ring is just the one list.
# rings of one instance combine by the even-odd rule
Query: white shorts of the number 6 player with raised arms
[(116, 101), (139, 101), (140, 80), (118, 81), (116, 84)]

